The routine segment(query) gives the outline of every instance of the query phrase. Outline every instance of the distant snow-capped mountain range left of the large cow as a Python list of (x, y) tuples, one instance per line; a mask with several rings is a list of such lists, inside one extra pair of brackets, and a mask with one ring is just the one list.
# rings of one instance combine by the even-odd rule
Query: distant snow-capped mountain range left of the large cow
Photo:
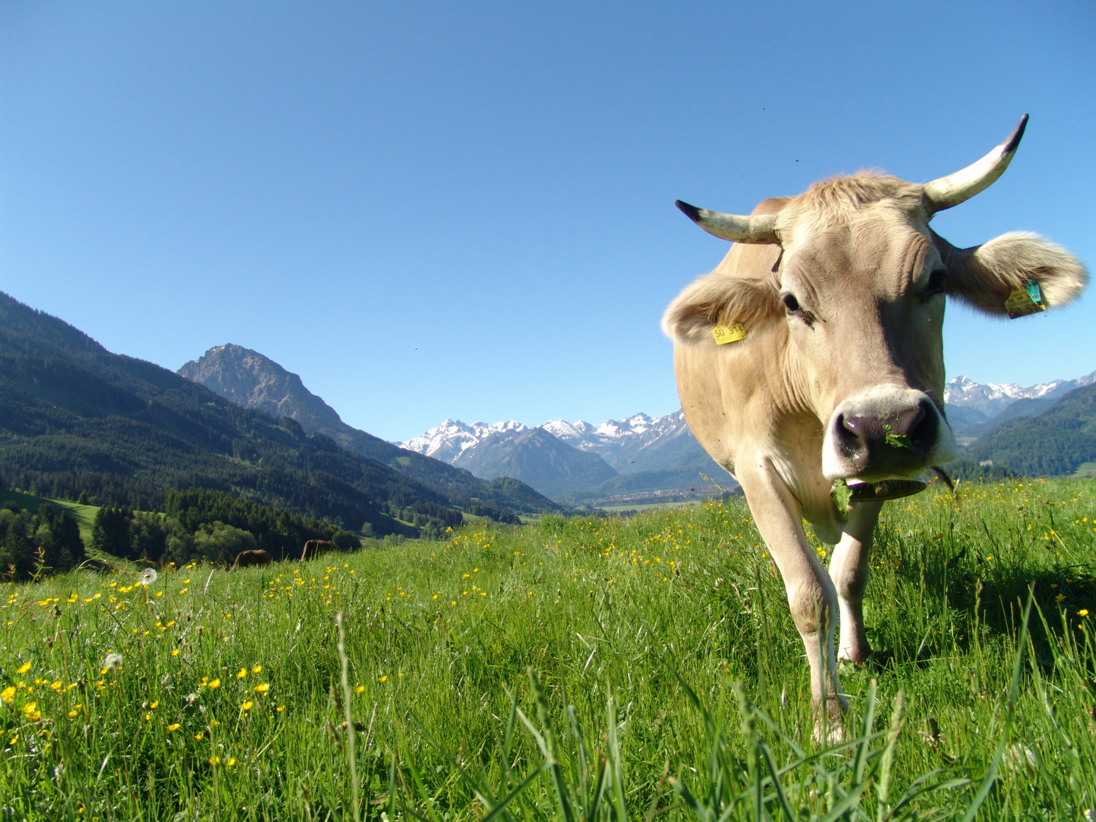
[[(596, 454), (620, 473), (661, 468), (699, 448), (685, 423), (685, 414), (681, 411), (665, 416), (639, 413), (600, 424), (583, 420), (549, 420), (537, 427), (544, 429), (572, 448)], [(516, 435), (527, 430), (527, 426), (513, 420), (490, 425), (482, 422), (469, 425), (459, 420), (446, 420), (436, 429), (400, 445), (409, 450), (453, 463), (468, 448), (493, 434)]]

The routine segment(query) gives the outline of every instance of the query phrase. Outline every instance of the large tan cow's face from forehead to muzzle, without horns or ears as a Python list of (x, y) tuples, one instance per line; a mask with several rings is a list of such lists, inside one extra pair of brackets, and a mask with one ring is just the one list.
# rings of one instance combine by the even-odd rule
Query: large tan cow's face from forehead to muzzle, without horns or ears
[(845, 208), (820, 214), (827, 197), (815, 189), (777, 220), (777, 321), (788, 329), (794, 390), (824, 426), (829, 479), (916, 477), (956, 455), (944, 416), (947, 269), (918, 198), (857, 204), (857, 193), (893, 183), (829, 181), (852, 190)]

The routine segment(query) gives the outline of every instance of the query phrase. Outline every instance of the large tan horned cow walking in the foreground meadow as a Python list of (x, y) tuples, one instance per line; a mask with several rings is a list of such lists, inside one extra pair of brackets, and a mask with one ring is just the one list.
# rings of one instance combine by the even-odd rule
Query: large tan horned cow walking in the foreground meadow
[[(929, 227), (1001, 176), (1027, 119), (978, 162), (925, 184), (840, 175), (750, 216), (676, 202), (734, 243), (663, 316), (682, 408), (742, 486), (784, 579), (820, 724), (846, 709), (836, 660), (870, 653), (861, 603), (883, 501), (925, 488), (927, 470), (956, 457), (945, 298), (1016, 316), (1063, 306), (1087, 283), (1075, 256), (1036, 235), (958, 249)], [(804, 520), (836, 546), (829, 569)]]

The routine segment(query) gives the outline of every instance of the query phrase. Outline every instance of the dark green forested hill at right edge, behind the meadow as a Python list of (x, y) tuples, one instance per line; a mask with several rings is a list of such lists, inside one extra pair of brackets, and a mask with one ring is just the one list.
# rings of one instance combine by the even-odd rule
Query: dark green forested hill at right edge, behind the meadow
[(1008, 420), (979, 437), (964, 457), (1029, 477), (1073, 473), (1096, 461), (1096, 385), (1077, 388), (1038, 416)]

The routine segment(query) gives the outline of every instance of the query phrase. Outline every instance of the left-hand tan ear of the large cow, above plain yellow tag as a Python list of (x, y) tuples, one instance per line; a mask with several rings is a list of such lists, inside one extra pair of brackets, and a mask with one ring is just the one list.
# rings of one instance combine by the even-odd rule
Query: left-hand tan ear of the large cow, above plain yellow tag
[(716, 326), (741, 323), (749, 334), (781, 316), (776, 283), (712, 272), (687, 286), (662, 316), (662, 331), (678, 345), (710, 345)]

